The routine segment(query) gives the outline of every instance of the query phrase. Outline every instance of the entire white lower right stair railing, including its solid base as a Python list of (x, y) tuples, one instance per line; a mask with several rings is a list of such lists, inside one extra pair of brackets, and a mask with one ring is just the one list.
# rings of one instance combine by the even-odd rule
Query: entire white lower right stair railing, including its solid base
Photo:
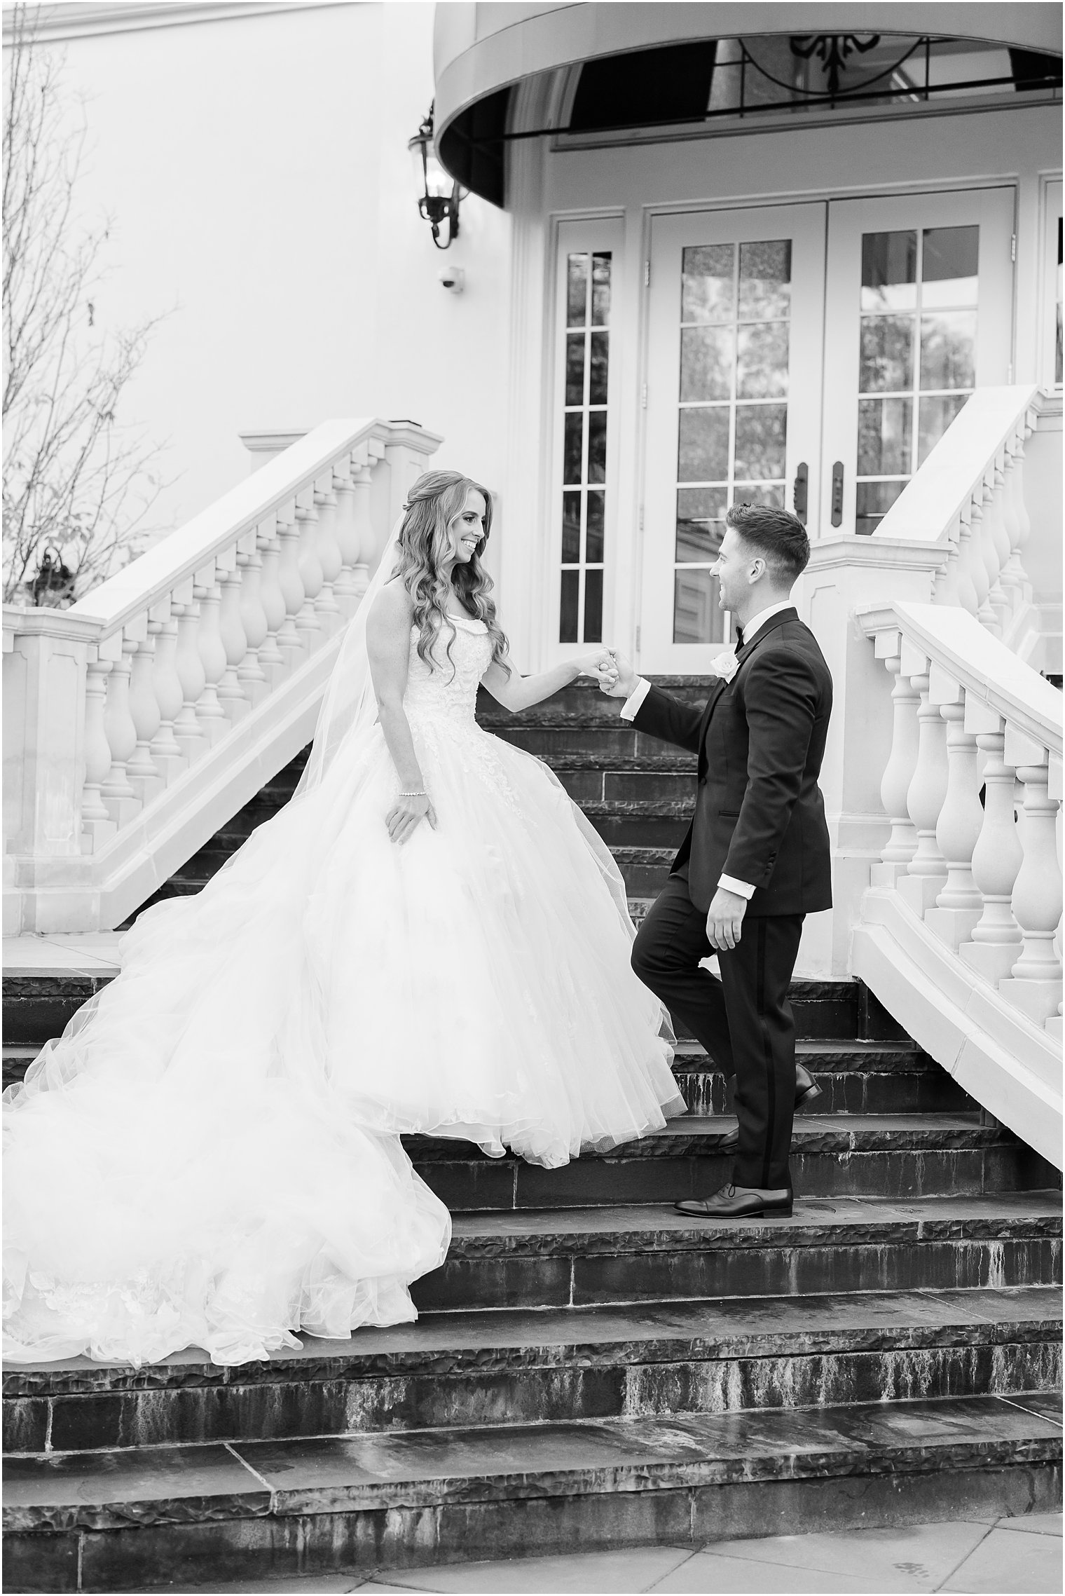
[(893, 733), (851, 970), (1060, 1168), (1062, 694), (958, 605), (856, 614)]

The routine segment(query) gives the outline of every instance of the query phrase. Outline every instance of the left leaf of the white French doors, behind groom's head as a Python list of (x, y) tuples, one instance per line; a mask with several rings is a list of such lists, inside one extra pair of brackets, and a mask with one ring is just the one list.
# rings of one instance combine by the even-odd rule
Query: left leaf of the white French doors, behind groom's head
[(819, 204), (654, 220), (644, 670), (703, 670), (727, 640), (727, 508), (791, 509), (799, 466), (816, 477), (823, 262)]

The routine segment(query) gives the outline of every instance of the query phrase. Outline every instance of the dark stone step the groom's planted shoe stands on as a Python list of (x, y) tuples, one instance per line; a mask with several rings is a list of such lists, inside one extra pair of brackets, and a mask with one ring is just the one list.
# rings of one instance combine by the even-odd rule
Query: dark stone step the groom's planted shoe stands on
[(1060, 1191), (797, 1197), (791, 1219), (700, 1221), (665, 1203), (458, 1213), (419, 1310), (1060, 1282)]

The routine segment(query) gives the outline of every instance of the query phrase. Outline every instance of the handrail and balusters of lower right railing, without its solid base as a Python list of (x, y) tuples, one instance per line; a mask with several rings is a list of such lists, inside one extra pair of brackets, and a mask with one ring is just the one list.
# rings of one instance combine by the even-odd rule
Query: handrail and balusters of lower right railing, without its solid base
[(960, 610), (867, 605), (861, 622), (896, 678), (880, 788), (891, 835), (870, 883), (1060, 1033), (1060, 693)]

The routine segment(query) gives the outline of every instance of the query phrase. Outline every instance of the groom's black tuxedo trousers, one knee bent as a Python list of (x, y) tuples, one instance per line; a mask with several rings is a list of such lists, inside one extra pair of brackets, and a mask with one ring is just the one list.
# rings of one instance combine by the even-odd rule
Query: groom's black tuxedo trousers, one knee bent
[(802, 915), (745, 915), (740, 942), (717, 954), (721, 980), (701, 969), (714, 950), (706, 911), (671, 875), (633, 943), (633, 970), (684, 1020), (713, 1061), (735, 1076), (740, 1146), (737, 1186), (791, 1191), (788, 1154), (796, 1117), (796, 1020), (788, 999)]

